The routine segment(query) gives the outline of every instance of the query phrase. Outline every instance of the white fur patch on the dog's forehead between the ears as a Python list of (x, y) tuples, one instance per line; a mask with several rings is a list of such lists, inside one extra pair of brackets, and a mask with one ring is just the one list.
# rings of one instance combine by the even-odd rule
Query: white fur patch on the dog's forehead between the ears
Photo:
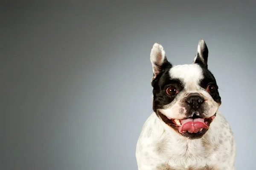
[(171, 78), (179, 79), (184, 83), (199, 82), (204, 78), (203, 69), (198, 64), (184, 64), (173, 66), (169, 70)]

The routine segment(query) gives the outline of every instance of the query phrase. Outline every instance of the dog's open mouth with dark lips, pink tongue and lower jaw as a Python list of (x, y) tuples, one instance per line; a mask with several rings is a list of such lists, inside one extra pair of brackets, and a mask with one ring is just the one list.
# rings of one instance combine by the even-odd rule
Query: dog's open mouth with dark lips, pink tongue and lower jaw
[(198, 139), (203, 137), (207, 132), (211, 122), (216, 116), (216, 113), (205, 118), (193, 115), (192, 117), (183, 119), (168, 118), (159, 111), (157, 111), (157, 115), (165, 124), (175, 130), (179, 135), (189, 139)]

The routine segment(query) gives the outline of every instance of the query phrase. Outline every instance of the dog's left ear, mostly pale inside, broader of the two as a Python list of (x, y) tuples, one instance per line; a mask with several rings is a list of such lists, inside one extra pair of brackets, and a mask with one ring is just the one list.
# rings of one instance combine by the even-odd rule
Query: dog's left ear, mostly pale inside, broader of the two
[(166, 53), (160, 43), (154, 43), (150, 53), (150, 61), (154, 72), (151, 81), (153, 81), (163, 69), (172, 67), (172, 64), (167, 61)]

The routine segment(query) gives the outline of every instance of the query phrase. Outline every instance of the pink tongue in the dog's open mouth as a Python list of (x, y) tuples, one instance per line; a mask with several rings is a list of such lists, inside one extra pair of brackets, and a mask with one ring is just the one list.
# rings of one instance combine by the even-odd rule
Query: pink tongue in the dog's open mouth
[(189, 133), (198, 133), (202, 128), (208, 129), (208, 126), (204, 123), (203, 118), (186, 118), (180, 120), (181, 126), (179, 128), (180, 133), (188, 131)]

